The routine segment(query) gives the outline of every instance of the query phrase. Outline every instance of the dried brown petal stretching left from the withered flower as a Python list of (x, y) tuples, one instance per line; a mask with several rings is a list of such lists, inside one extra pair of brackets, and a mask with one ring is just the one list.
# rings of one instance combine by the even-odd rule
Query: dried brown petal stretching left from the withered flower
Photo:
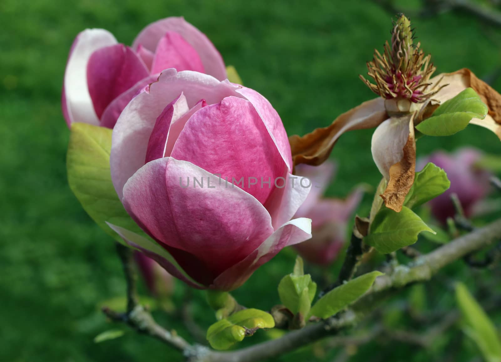
[(319, 165), (332, 151), (337, 139), (347, 131), (377, 127), (388, 118), (384, 99), (375, 98), (341, 114), (330, 126), (317, 128), (300, 137), (289, 137), (294, 164)]

